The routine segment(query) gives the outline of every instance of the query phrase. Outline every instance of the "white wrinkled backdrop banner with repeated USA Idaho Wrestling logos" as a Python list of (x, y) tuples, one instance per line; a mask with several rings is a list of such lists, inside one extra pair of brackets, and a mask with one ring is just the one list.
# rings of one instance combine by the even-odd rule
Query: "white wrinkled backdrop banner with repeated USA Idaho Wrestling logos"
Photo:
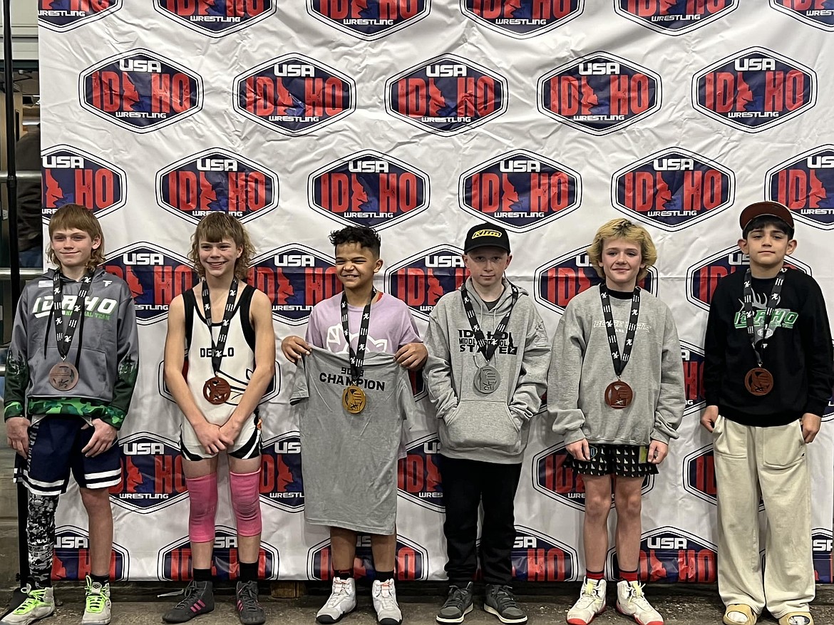
[[(279, 338), (339, 292), (327, 235), (378, 228), (379, 288), (420, 329), (460, 286), (473, 223), (511, 233), (510, 279), (549, 333), (596, 283), (585, 248), (615, 217), (646, 224), (660, 260), (644, 286), (678, 323), (688, 407), (644, 488), (641, 572), (716, 580), (716, 485), (698, 418), (707, 309), (743, 268), (738, 213), (775, 199), (796, 215), (791, 263), (834, 295), (831, 0), (39, 0), (44, 218), (78, 202), (101, 219), (108, 268), (136, 299), (142, 366), (123, 428), (113, 577), (188, 577), (179, 413), (163, 384), (168, 303), (193, 286), (194, 224), (240, 218), (249, 279)], [(827, 130), (826, 130), (827, 128)], [(827, 252), (826, 252), (827, 250)], [(826, 261), (826, 258), (829, 258)], [(304, 524), (293, 366), (264, 400), (269, 579), (328, 579), (326, 528)], [(444, 576), (435, 417), (400, 463), (398, 574)], [(834, 406), (809, 448), (815, 567), (831, 582)], [(519, 580), (580, 579), (584, 490), (538, 418), (516, 498)], [(220, 577), (237, 575), (221, 481)], [(89, 570), (83, 508), (59, 510), (57, 577)], [(613, 517), (613, 515), (612, 515)], [(359, 570), (372, 568), (367, 537)], [(607, 572), (615, 574), (609, 558)]]

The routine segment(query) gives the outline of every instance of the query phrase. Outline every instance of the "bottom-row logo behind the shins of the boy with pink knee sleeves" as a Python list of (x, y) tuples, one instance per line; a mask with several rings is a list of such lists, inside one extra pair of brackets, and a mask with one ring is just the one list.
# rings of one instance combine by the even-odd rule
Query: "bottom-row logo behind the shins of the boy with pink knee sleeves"
[[(278, 570), (278, 549), (262, 539), (258, 552), (258, 578), (278, 579)], [(238, 536), (234, 527), (217, 527), (212, 576), (224, 582), (234, 581), (240, 576)], [(163, 582), (183, 582), (191, 579), (191, 543), (188, 536), (183, 536), (159, 550), (157, 577)]]

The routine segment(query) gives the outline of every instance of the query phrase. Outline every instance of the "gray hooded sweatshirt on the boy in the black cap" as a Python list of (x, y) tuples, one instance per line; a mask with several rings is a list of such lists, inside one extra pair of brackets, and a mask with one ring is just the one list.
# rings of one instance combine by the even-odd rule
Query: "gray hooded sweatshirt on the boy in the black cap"
[[(485, 338), (510, 310), (509, 284), (492, 310), (478, 297), (472, 278), (466, 289)], [(500, 384), (494, 393), (475, 388), (475, 374), (485, 365), (466, 317), (460, 291), (447, 293), (431, 312), (425, 346), (429, 359), (423, 372), (429, 397), (437, 408), (440, 453), (449, 458), (489, 463), (520, 463), (527, 446), (530, 418), (545, 393), (550, 346), (535, 304), (524, 291), (490, 360)]]

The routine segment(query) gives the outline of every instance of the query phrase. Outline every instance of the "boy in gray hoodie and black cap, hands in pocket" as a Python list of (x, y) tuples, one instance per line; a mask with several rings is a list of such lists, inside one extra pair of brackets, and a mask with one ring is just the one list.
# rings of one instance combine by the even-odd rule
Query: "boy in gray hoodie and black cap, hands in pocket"
[(512, 260), (505, 229), (490, 223), (470, 228), (463, 258), (470, 278), (440, 298), (425, 338), (425, 382), (440, 436), (450, 583), (437, 622), (463, 622), (472, 610), (483, 502), (484, 609), (501, 622), (525, 623), (509, 585), (513, 502), (530, 418), (545, 393), (550, 346), (534, 303), (504, 276)]

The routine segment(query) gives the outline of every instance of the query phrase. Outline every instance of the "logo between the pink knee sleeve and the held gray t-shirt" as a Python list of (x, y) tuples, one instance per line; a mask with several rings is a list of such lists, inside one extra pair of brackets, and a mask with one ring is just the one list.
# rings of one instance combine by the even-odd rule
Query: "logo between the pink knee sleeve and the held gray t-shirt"
[(261, 501), (284, 512), (304, 510), (301, 438), (288, 432), (270, 438), (261, 449)]

